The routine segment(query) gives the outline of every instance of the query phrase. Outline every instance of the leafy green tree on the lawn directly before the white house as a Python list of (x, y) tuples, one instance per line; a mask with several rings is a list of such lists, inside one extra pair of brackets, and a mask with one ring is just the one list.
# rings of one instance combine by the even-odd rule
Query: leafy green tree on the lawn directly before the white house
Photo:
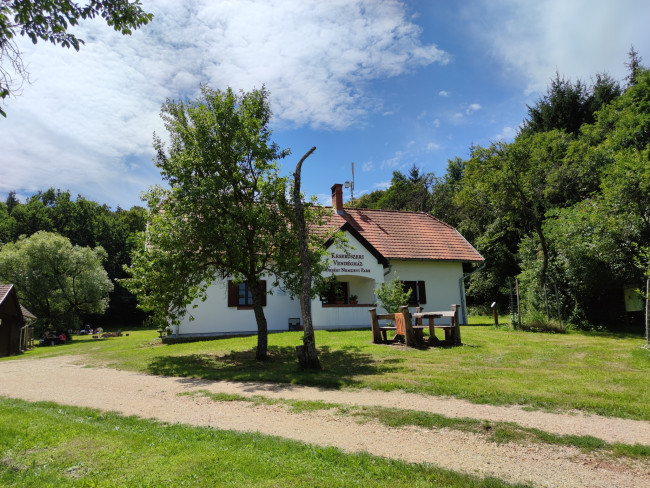
[(146, 195), (149, 228), (125, 284), (160, 323), (178, 324), (215, 279), (246, 283), (257, 322), (256, 357), (264, 360), (267, 323), (258, 283), (286, 271), (279, 269), (284, 253), (299, 255), (292, 217), (283, 210), (291, 208), (288, 182), (276, 162), (289, 151), (271, 142), (268, 92), (203, 86), (195, 101), (165, 103), (162, 116), (169, 152), (158, 137), (154, 146), (169, 189)]

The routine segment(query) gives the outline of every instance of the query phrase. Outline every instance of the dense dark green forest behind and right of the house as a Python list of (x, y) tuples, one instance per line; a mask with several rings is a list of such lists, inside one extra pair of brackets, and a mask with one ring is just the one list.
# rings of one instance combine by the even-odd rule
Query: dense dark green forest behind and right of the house
[(516, 283), (524, 321), (641, 331), (624, 292), (642, 302), (650, 270), (650, 72), (633, 49), (626, 66), (625, 86), (556, 74), (512, 143), (471, 147), (440, 177), (395, 171), (354, 206), (458, 229), (485, 257), (467, 280), (470, 306), (511, 309)]

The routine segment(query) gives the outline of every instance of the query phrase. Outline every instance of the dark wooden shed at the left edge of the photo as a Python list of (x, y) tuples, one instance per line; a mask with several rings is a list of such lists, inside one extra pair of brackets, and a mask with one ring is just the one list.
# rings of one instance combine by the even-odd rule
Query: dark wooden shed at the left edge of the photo
[(13, 285), (0, 285), (0, 356), (20, 354), (31, 337), (28, 320), (35, 317), (21, 307)]

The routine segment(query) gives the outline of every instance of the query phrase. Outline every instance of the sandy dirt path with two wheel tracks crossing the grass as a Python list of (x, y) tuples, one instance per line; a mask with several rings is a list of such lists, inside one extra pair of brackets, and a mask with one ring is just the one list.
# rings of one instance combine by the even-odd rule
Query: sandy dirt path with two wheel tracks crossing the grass
[(269, 398), (323, 400), (350, 405), (380, 405), (435, 412), (450, 417), (513, 421), (560, 434), (593, 435), (608, 442), (650, 444), (650, 422), (599, 416), (530, 412), (518, 407), (473, 405), (455, 399), (400, 392), (331, 391), (319, 388), (211, 382), (167, 378), (113, 369), (86, 368), (83, 358), (61, 356), (0, 363), (0, 396), (54, 401), (112, 410), (166, 422), (255, 430), (345, 451), (431, 462), (511, 482), (545, 487), (647, 487), (650, 463), (599, 459), (574, 448), (546, 444), (500, 444), (449, 429), (394, 429), (377, 422), (358, 423), (330, 411), (296, 414), (281, 405), (214, 402), (179, 396), (196, 390)]

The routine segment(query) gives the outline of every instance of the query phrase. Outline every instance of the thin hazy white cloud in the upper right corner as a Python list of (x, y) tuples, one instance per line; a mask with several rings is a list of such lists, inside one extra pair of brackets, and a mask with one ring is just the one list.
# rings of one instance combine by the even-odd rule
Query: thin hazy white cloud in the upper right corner
[(494, 0), (473, 2), (464, 14), (504, 75), (523, 77), (526, 93), (544, 92), (556, 70), (585, 81), (605, 70), (622, 79), (631, 44), (650, 52), (646, 0)]

